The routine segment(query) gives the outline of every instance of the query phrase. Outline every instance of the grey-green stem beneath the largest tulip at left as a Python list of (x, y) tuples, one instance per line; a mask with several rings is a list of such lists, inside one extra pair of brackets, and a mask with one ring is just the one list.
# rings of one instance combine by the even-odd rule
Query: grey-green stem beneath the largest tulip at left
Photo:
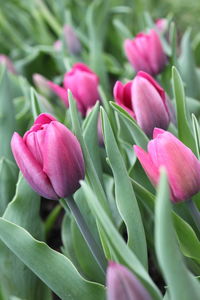
[[(92, 236), (88, 225), (86, 224), (76, 202), (74, 201), (73, 197), (67, 197), (66, 199), (60, 199), (61, 205), (64, 207), (66, 211), (68, 211), (68, 207), (70, 208), (74, 219), (76, 221), (76, 224), (78, 225), (83, 238), (85, 239), (90, 251), (92, 252), (96, 262), (98, 263), (99, 267), (105, 274), (107, 262), (105, 257), (102, 254), (102, 251), (95, 241), (94, 237)], [(68, 207), (67, 207), (68, 206)]]

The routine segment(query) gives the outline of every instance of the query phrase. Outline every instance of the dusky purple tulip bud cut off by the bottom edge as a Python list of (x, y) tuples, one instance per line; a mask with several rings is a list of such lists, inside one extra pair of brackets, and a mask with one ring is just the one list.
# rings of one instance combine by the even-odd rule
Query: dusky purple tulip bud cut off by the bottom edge
[(124, 266), (109, 262), (107, 300), (151, 300), (140, 281)]

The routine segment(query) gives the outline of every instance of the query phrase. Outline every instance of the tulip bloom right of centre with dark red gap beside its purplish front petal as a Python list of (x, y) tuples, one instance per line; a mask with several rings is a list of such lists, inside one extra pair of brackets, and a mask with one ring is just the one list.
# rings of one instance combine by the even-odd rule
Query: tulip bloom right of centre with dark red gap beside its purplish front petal
[(153, 129), (167, 129), (170, 120), (175, 122), (175, 112), (163, 88), (147, 73), (139, 72), (124, 86), (117, 81), (114, 98), (151, 137)]

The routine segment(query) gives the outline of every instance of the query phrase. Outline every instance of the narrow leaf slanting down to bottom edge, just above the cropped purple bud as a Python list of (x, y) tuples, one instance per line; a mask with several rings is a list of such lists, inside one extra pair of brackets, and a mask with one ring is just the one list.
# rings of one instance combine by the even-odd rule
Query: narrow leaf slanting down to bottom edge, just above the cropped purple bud
[(160, 291), (151, 280), (144, 266), (141, 264), (136, 255), (131, 251), (118, 231), (115, 229), (108, 215), (103, 210), (100, 202), (97, 200), (96, 194), (94, 194), (94, 192), (85, 182), (81, 182), (81, 185), (86, 195), (87, 202), (93, 214), (96, 216), (97, 221), (102, 226), (105, 237), (109, 242), (112, 256), (117, 262), (124, 264), (129, 269), (131, 269), (136, 274), (136, 276), (138, 276), (142, 280), (144, 286), (152, 295), (153, 299), (161, 299)]

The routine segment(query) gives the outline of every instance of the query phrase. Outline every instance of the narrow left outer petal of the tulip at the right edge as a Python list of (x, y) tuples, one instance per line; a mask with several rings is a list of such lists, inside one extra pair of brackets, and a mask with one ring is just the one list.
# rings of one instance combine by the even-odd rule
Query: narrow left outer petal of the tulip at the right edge
[(159, 179), (159, 171), (154, 165), (151, 156), (139, 146), (135, 145), (133, 148), (147, 176), (150, 178), (152, 184), (156, 185)]

